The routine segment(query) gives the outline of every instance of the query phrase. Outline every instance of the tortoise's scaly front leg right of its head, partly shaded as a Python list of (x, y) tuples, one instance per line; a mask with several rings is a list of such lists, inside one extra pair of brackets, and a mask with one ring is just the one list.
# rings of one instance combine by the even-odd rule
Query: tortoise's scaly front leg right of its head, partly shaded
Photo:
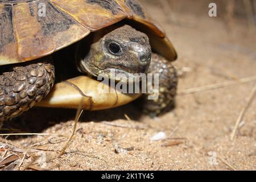
[[(143, 111), (149, 114), (150, 117), (155, 117), (165, 113), (174, 106), (178, 77), (174, 65), (156, 53), (152, 53), (148, 73), (152, 73), (153, 78), (154, 73), (159, 73), (159, 89), (154, 90), (154, 92), (158, 92), (158, 98), (148, 100), (148, 94), (144, 94), (142, 98)], [(154, 88), (154, 81), (152, 81), (152, 84)]]

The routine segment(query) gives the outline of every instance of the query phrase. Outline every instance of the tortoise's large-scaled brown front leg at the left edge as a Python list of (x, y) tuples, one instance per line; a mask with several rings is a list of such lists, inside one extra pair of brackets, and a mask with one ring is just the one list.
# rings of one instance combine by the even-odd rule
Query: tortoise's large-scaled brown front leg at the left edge
[(50, 56), (11, 65), (7, 69), (0, 75), (0, 125), (46, 97), (55, 80)]

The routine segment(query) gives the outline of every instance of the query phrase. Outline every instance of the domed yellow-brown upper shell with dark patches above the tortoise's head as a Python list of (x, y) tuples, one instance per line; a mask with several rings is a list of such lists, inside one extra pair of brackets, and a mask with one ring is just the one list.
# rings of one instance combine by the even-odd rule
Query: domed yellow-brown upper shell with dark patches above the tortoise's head
[(0, 65), (49, 55), (123, 19), (150, 37), (155, 52), (176, 59), (163, 28), (137, 1), (0, 0)]

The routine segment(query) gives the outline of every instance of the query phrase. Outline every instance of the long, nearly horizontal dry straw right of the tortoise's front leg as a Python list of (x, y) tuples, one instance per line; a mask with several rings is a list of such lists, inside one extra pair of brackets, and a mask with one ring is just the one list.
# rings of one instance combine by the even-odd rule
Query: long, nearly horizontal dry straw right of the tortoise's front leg
[(200, 86), (197, 88), (191, 88), (191, 89), (185, 89), (182, 90), (181, 92), (179, 92), (179, 95), (183, 95), (183, 94), (191, 94), (191, 93), (196, 93), (196, 92), (203, 92), (206, 90), (213, 90), (213, 89), (218, 89), (218, 88), (223, 88), (226, 86), (231, 86), (231, 85), (236, 85), (236, 84), (242, 84), (245, 82), (250, 82), (250, 81), (255, 81), (256, 80), (256, 76), (253, 77), (246, 77), (246, 78), (241, 78), (238, 79), (236, 81), (228, 81), (228, 82), (222, 82), (219, 84), (213, 84), (213, 85), (207, 85), (207, 86)]

